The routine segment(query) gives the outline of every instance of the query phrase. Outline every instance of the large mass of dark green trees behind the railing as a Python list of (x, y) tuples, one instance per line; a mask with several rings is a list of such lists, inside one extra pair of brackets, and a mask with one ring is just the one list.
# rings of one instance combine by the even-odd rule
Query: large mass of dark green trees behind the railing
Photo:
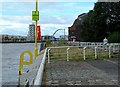
[(120, 29), (120, 2), (95, 3), (94, 9), (88, 12), (77, 29), (80, 29), (81, 41), (103, 41), (108, 36), (109, 39), (117, 37), (112, 34)]

